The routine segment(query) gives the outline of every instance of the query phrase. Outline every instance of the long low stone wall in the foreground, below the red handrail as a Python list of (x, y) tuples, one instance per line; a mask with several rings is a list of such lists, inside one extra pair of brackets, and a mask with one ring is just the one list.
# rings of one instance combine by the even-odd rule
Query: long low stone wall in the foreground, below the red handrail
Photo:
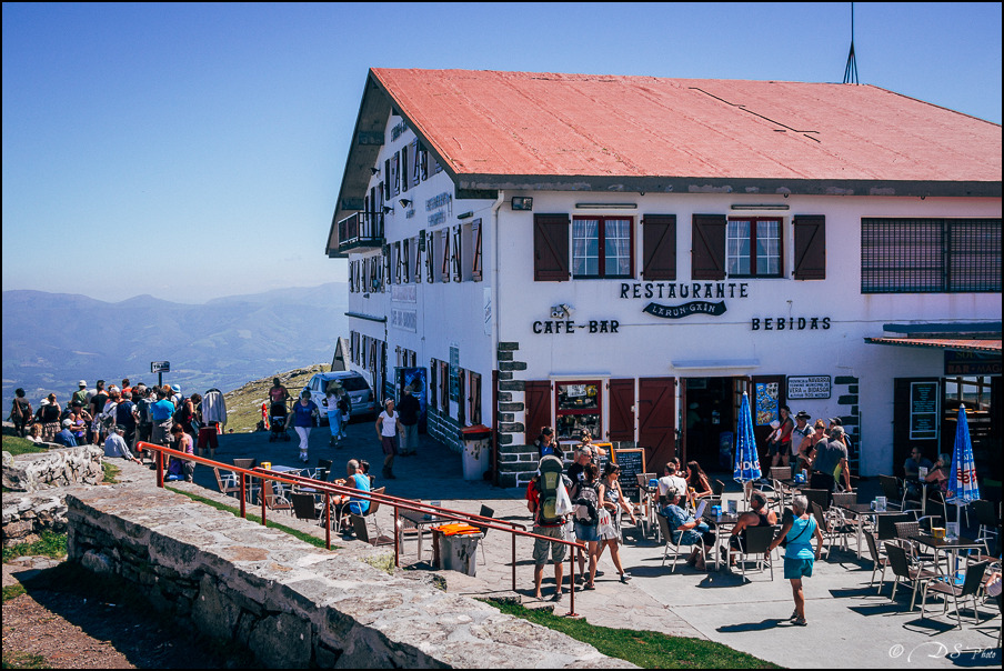
[(626, 668), (564, 634), (145, 482), (67, 497), (71, 561), (271, 668)]

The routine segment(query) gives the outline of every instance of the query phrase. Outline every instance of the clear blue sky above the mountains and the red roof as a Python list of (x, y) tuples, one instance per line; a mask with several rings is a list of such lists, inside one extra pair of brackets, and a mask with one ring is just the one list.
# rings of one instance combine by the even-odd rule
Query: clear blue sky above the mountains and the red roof
[[(179, 302), (324, 253), (367, 70), (841, 81), (850, 3), (3, 3), (3, 290)], [(861, 83), (1001, 122), (1000, 3), (855, 3)]]

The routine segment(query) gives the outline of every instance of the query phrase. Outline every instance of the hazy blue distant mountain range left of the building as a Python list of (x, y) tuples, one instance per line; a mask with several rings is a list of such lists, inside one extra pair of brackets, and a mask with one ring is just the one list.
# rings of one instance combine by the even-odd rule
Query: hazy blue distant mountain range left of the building
[(164, 382), (185, 394), (230, 391), (300, 365), (330, 363), (348, 338), (343, 282), (307, 289), (172, 303), (138, 296), (118, 303), (86, 296), (4, 291), (3, 417), (14, 389), (32, 405), (49, 392), (62, 403), (78, 381), (157, 383), (152, 361), (169, 361)]

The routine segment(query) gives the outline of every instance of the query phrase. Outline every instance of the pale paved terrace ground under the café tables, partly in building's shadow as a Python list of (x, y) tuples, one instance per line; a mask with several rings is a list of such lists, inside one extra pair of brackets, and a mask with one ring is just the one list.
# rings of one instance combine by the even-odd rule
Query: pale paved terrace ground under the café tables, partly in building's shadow
[[(267, 432), (221, 437), (217, 460), (231, 462), (234, 458), (254, 457), (273, 464), (299, 465), (295, 437), (289, 442), (273, 443), (268, 437)], [(329, 448), (327, 428), (312, 431), (310, 465), (315, 465), (318, 459), (331, 459), (338, 471), (338, 464), (350, 458), (367, 459), (372, 464), (372, 472), (378, 474), (378, 487), (386, 485), (389, 494), (424, 501), (442, 500), (445, 507), (473, 513), (483, 503), (493, 508), (498, 518), (530, 524), (522, 490), (464, 481), (461, 457), (439, 443), (423, 442), (418, 457), (398, 458), (394, 468), (398, 479), (383, 480), (379, 478), (382, 453), (372, 422), (353, 423), (343, 448)], [(342, 472), (335, 475), (342, 477)], [(195, 482), (217, 491), (212, 471), (208, 468), (197, 469)], [(739, 499), (739, 489), (726, 492), (726, 497)], [(391, 509), (382, 508), (379, 515), (382, 529), (390, 530)], [(290, 518), (274, 519), (290, 523)], [(323, 537), (322, 529), (313, 528), (312, 532)], [(343, 551), (362, 545), (359, 541), (339, 539), (338, 542), (345, 547)], [(426, 537), (426, 559), (430, 545)], [(525, 605), (546, 605), (532, 598), (531, 547), (532, 540), (518, 539), (516, 590)], [(484, 555), (479, 552), (476, 578), (444, 573), (448, 590), (479, 597), (511, 595), (509, 534), (490, 531), (484, 550)], [(402, 565), (415, 561), (415, 542), (409, 540)], [(872, 564), (857, 560), (853, 552), (835, 550), (830, 560), (824, 558), (816, 563), (815, 574), (805, 581), (809, 620), (805, 628), (787, 621), (793, 605), (781, 562), (776, 562), (773, 581), (769, 572), (747, 572), (746, 579), (726, 571), (699, 573), (682, 561), (671, 574), (669, 565), (662, 567), (663, 548), (651, 539), (640, 538), (635, 530), (629, 531), (628, 544), (621, 552), (625, 568), (633, 574), (630, 583), (619, 581), (608, 552), (600, 562), (600, 570), (605, 574), (596, 579), (596, 590), (576, 592), (575, 611), (594, 624), (705, 638), (785, 667), (1001, 665), (998, 648), (991, 657), (974, 658), (971, 652), (955, 654), (961, 650), (985, 651), (996, 647), (1001, 615), (992, 603), (981, 604), (977, 625), (972, 621), (972, 610), (967, 609), (964, 614), (968, 621), (962, 629), (956, 628), (951, 610), (948, 615), (943, 615), (941, 604), (934, 602), (933, 617), (928, 609), (928, 618), (921, 619), (920, 610), (908, 611), (910, 590), (901, 588), (896, 602), (892, 603), (888, 599), (891, 587), (886, 587), (881, 595), (876, 594), (876, 588), (869, 588)], [(544, 575), (546, 599), (553, 592), (550, 567)], [(565, 595), (555, 612), (561, 614), (568, 610), (569, 597)]]

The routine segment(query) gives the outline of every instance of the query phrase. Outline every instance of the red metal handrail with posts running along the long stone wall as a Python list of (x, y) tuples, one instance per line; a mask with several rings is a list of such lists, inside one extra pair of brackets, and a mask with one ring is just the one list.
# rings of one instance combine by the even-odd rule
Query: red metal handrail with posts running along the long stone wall
[[(370, 502), (380, 502), (386, 503), (394, 508), (394, 565), (400, 565), (400, 543), (401, 543), (401, 534), (398, 533), (401, 523), (398, 518), (399, 508), (404, 510), (412, 510), (415, 512), (426, 513), (430, 510), (436, 511), (439, 517), (444, 519), (454, 520), (458, 522), (465, 522), (471, 524), (472, 527), (480, 527), (483, 529), (494, 529), (496, 531), (504, 531), (511, 534), (512, 538), (512, 590), (516, 589), (516, 535), (532, 538), (532, 539), (541, 539), (552, 543), (559, 543), (562, 545), (571, 545), (572, 551), (569, 553), (569, 577), (571, 580), (569, 593), (570, 593), (570, 602), (569, 602), (569, 615), (575, 615), (575, 559), (576, 552), (582, 552), (586, 550), (583, 543), (579, 543), (575, 541), (566, 541), (563, 539), (555, 539), (546, 535), (541, 535), (538, 533), (532, 533), (525, 530), (523, 524), (519, 524), (516, 522), (510, 522), (508, 520), (496, 520), (495, 518), (485, 518), (483, 515), (478, 515), (473, 513), (463, 512), (460, 510), (451, 510), (448, 508), (418, 503), (410, 499), (401, 499), (399, 497), (392, 497), (390, 494), (378, 494), (374, 492), (364, 492), (359, 489), (342, 487), (339, 484), (334, 484), (333, 482), (324, 482), (321, 480), (314, 480), (312, 478), (305, 478), (303, 475), (288, 474), (288, 473), (274, 473), (274, 471), (270, 471), (267, 469), (262, 469), (260, 467), (255, 467), (254, 469), (241, 469), (233, 464), (222, 463), (219, 461), (213, 461), (211, 459), (205, 459), (204, 457), (198, 457), (195, 454), (189, 454), (187, 452), (181, 452), (179, 450), (174, 450), (172, 448), (167, 448), (164, 445), (158, 445), (149, 442), (138, 442), (137, 448), (142, 451), (144, 449), (152, 450), (157, 453), (157, 487), (164, 487), (164, 465), (163, 465), (163, 455), (168, 454), (170, 457), (175, 457), (178, 459), (185, 459), (188, 461), (193, 461), (195, 463), (201, 463), (203, 465), (208, 465), (210, 468), (222, 468), (233, 473), (240, 474), (240, 512), (241, 518), (247, 518), (247, 485), (245, 485), (245, 477), (250, 478), (259, 478), (262, 480), (262, 493), (259, 495), (261, 499), (261, 523), (262, 525), (267, 524), (265, 519), (265, 510), (267, 510), (267, 500), (264, 497), (264, 481), (272, 482), (281, 482), (283, 484), (291, 485), (309, 485), (311, 489), (314, 489), (319, 492), (324, 493), (324, 518), (325, 518), (325, 533), (324, 533), (324, 543), (325, 547), (331, 549), (331, 494), (338, 495), (349, 495), (354, 499), (363, 499)], [(503, 524), (508, 524), (509, 527), (504, 527)], [(519, 527), (519, 529), (516, 529)]]

